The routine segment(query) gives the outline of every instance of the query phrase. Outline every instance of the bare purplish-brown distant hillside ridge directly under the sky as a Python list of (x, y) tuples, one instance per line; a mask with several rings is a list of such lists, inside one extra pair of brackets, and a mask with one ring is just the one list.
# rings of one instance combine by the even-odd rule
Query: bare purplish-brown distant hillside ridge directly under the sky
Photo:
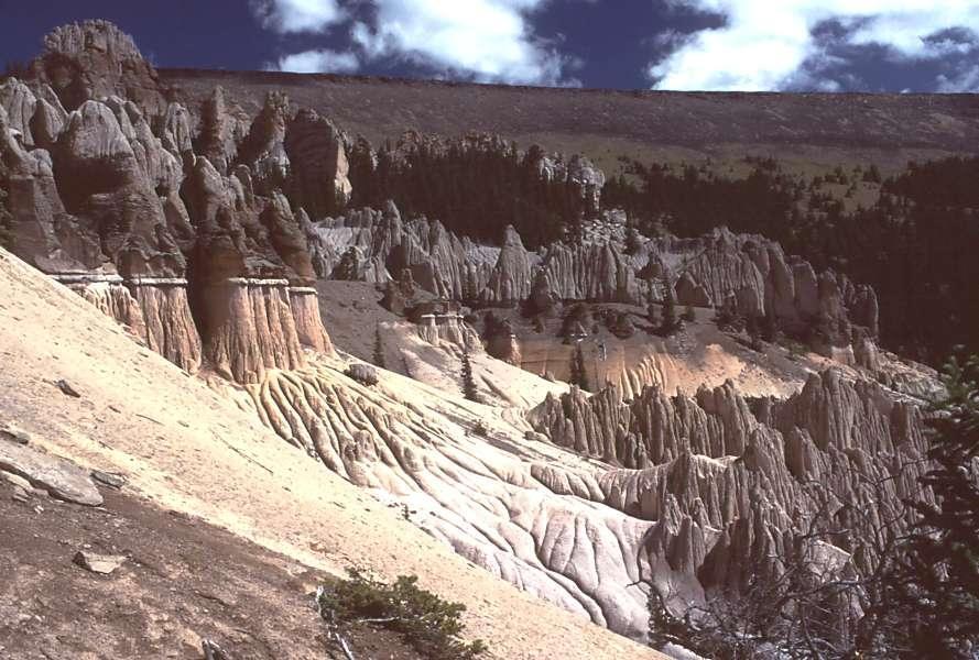
[(221, 85), (257, 112), (283, 90), (374, 144), (405, 129), (499, 133), (583, 153), (610, 168), (643, 161), (776, 155), (796, 163), (884, 168), (979, 152), (979, 95), (721, 94), (469, 85), (271, 72), (161, 69), (189, 105)]

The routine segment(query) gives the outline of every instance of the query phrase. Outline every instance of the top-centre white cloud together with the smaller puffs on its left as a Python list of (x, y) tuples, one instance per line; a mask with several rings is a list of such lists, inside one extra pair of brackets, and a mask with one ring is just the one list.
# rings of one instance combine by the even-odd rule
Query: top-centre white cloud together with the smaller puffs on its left
[(574, 85), (568, 76), (576, 67), (574, 58), (534, 34), (532, 16), (550, 1), (259, 0), (252, 9), (265, 28), (282, 34), (338, 25), (349, 33), (347, 52), (289, 55), (278, 63), (279, 68), (292, 67), (287, 70), (349, 72), (390, 59), (447, 78)]

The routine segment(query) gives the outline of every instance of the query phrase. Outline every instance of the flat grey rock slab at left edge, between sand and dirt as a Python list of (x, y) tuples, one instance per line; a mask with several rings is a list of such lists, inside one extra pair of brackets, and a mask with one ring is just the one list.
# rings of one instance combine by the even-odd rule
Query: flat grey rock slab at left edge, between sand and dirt
[(0, 442), (0, 470), (26, 479), (32, 485), (47, 491), (52, 497), (85, 506), (102, 504), (102, 496), (84, 470), (65, 459), (30, 447)]

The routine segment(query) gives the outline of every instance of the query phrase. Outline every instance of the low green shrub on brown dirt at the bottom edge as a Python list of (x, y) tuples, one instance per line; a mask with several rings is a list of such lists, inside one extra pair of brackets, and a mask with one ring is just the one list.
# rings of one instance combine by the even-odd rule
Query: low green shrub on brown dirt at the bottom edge
[(467, 644), (459, 637), (466, 606), (420, 588), (415, 575), (401, 575), (388, 584), (357, 569), (347, 573), (347, 580), (317, 595), (319, 613), (329, 625), (381, 625), (401, 634), (405, 642), (433, 660), (470, 660), (487, 650), (481, 640)]

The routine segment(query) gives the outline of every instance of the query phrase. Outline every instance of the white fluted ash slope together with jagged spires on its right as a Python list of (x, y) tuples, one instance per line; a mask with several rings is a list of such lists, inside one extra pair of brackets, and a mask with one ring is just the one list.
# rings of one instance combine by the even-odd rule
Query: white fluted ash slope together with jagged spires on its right
[[(490, 443), (438, 421), (449, 404), (412, 398), (404, 407), (406, 383), (383, 383), (363, 388), (322, 370), (270, 373), (249, 393), (283, 439), (403, 503), (457, 552), (630, 636), (646, 626), (638, 583), (668, 586), (682, 606), (705, 590), (744, 585), (752, 572), (777, 571), (772, 558), (824, 498), (834, 512), (866, 512), (833, 549), (842, 564), (864, 568), (861, 534), (916, 492), (921, 468), (902, 469), (918, 464), (924, 449), (920, 415), (893, 404), (825, 448), (808, 440), (808, 419), (836, 414), (830, 400), (848, 403), (842, 415), (852, 417), (881, 396), (833, 372), (813, 376), (807, 389), (835, 398), (806, 393), (776, 407), (787, 436), (759, 421), (728, 385), (695, 398), (650, 388), (632, 404), (613, 389), (590, 399), (574, 391), (533, 411), (532, 441), (491, 422), (481, 431)], [(601, 463), (545, 459), (537, 438)], [(855, 443), (879, 450), (853, 451)], [(877, 484), (886, 477), (881, 497)]]

